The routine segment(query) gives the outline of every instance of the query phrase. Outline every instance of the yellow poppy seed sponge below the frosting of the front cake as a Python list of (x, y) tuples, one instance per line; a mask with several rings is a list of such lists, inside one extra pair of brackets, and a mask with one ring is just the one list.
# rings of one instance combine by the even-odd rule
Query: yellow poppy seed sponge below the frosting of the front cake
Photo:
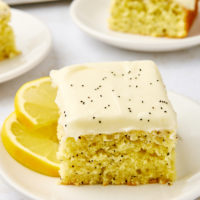
[(130, 131), (67, 138), (60, 145), (61, 183), (128, 184), (174, 182), (173, 132)]

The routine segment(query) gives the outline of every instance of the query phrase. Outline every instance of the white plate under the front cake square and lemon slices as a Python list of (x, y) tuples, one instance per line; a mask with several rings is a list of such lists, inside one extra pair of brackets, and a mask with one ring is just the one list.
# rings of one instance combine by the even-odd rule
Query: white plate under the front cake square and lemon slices
[[(200, 105), (169, 93), (178, 115), (177, 181), (174, 185), (63, 186), (59, 178), (31, 171), (16, 162), (0, 140), (0, 174), (15, 189), (33, 199), (49, 200), (188, 200), (200, 196)], [(4, 109), (6, 112), (6, 109)], [(2, 123), (2, 122), (1, 122)]]

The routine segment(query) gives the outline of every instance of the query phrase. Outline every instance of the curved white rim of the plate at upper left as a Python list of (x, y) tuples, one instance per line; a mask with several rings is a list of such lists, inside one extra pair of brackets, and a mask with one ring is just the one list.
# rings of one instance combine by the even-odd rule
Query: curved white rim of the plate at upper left
[[(44, 58), (48, 55), (52, 47), (52, 36), (51, 36), (50, 30), (48, 29), (47, 25), (44, 22), (42, 22), (39, 18), (16, 8), (11, 8), (11, 16), (13, 15), (12, 13), (15, 13), (15, 14), (19, 13), (21, 15), (28, 16), (29, 18), (34, 19), (38, 24), (43, 26), (43, 28), (46, 31), (46, 38), (47, 38), (46, 49), (44, 49), (42, 53), (38, 54), (36, 59), (32, 60), (31, 62), (25, 62), (22, 65), (23, 67), (16, 67), (10, 71), (6, 71), (0, 74), (0, 84), (3, 82), (7, 82), (9, 80), (12, 80), (18, 76), (21, 76), (25, 74), (26, 72), (30, 71), (31, 69), (33, 69), (34, 67), (38, 66), (38, 64), (40, 64), (44, 60)], [(12, 18), (12, 20), (14, 21), (14, 18)], [(23, 56), (23, 52), (22, 52), (22, 56)], [(10, 60), (12, 60), (12, 58)], [(9, 59), (6, 59), (5, 61), (9, 62)]]

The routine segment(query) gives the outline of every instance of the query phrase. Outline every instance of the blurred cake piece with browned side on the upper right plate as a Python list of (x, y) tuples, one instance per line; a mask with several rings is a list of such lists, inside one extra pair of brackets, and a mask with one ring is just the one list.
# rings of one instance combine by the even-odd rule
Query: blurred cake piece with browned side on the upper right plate
[(109, 27), (126, 33), (183, 38), (197, 7), (198, 0), (112, 0)]

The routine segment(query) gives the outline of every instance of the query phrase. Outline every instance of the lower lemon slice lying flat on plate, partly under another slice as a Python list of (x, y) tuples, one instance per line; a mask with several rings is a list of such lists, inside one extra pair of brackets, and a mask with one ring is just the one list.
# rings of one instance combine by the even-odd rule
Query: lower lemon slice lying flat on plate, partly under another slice
[(30, 129), (22, 125), (13, 112), (3, 124), (1, 137), (6, 150), (15, 160), (39, 173), (59, 176), (56, 124)]

